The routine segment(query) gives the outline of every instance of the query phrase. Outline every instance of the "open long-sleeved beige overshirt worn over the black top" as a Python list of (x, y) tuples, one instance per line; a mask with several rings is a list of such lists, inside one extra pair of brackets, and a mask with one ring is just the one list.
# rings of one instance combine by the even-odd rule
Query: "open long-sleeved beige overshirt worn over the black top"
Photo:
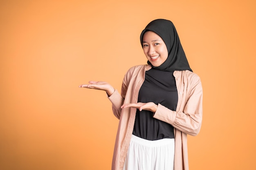
[[(130, 68), (124, 76), (121, 95), (117, 90), (109, 97), (114, 115), (119, 119), (115, 141), (112, 170), (122, 170), (135, 122), (136, 108), (121, 109), (122, 104), (137, 103), (138, 93), (144, 82), (145, 71), (150, 65)], [(202, 124), (202, 85), (198, 75), (191, 71), (174, 71), (173, 73), (178, 103), (176, 111), (158, 104), (154, 118), (165, 121), (174, 127), (175, 157), (174, 170), (189, 170), (187, 152), (187, 134), (198, 134)]]

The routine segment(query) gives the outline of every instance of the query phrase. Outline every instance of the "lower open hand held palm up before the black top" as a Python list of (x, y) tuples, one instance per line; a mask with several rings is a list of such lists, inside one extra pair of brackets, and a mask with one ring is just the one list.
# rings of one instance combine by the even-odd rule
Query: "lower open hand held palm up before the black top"
[(121, 108), (137, 108), (139, 111), (141, 110), (149, 110), (153, 113), (156, 112), (157, 110), (157, 105), (154, 104), (153, 102), (148, 102), (148, 103), (129, 103), (129, 104), (124, 104), (121, 106)]

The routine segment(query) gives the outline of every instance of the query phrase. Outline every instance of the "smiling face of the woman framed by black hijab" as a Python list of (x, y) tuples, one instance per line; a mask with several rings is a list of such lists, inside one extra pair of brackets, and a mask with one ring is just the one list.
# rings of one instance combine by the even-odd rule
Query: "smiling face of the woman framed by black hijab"
[(167, 59), (167, 47), (162, 38), (153, 31), (144, 33), (142, 44), (144, 54), (153, 66), (158, 67)]

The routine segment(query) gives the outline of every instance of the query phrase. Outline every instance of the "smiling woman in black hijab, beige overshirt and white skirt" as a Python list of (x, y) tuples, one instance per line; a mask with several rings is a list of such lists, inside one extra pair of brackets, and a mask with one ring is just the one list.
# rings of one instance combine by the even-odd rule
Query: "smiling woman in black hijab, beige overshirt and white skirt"
[(188, 170), (187, 134), (202, 123), (200, 78), (171, 21), (153, 20), (140, 41), (148, 64), (127, 71), (121, 95), (106, 82), (79, 87), (106, 91), (119, 119), (112, 170)]

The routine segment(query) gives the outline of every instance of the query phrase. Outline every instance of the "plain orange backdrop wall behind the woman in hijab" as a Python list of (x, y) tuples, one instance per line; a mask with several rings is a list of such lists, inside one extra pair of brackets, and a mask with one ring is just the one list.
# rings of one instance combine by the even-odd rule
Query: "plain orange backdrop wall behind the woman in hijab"
[(139, 35), (172, 20), (202, 80), (190, 170), (255, 170), (255, 0), (1, 0), (0, 169), (107, 170), (118, 119), (103, 91), (146, 64)]

